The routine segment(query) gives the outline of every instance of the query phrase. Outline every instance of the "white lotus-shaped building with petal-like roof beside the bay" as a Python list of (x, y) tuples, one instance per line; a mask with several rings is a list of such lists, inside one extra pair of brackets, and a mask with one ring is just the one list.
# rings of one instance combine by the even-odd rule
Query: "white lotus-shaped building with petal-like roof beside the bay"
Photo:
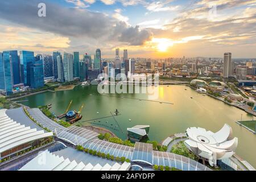
[(208, 160), (210, 166), (217, 160), (230, 158), (237, 148), (238, 139), (233, 137), (232, 128), (225, 124), (217, 133), (200, 127), (191, 127), (186, 131), (188, 140), (184, 144), (201, 159)]

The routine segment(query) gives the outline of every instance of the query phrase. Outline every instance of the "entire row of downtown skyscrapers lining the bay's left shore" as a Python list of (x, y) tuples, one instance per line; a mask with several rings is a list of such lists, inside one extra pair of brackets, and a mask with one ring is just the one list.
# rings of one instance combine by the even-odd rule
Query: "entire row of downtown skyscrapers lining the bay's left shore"
[(97, 79), (100, 73), (115, 78), (119, 73), (129, 76), (135, 73), (135, 60), (128, 59), (127, 49), (123, 50), (122, 59), (116, 49), (113, 62), (102, 60), (100, 49), (94, 59), (87, 53), (80, 59), (79, 52), (36, 56), (32, 51), (20, 51), (19, 55), (18, 51), (0, 53), (0, 90), (7, 96), (21, 85), (38, 89), (48, 78), (58, 82), (85, 81)]

